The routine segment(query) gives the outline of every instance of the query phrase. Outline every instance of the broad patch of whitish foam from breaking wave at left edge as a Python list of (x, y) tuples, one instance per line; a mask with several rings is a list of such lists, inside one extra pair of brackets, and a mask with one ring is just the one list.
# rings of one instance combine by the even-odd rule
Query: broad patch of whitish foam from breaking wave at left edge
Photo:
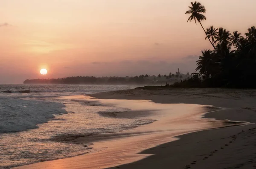
[(49, 101), (12, 98), (0, 99), (0, 133), (34, 129), (46, 123), (54, 114), (67, 113), (64, 105)]

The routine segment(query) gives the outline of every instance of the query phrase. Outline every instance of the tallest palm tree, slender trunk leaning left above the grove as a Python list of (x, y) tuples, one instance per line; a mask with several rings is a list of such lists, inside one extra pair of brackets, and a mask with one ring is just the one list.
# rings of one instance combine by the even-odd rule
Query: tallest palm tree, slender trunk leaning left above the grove
[[(188, 19), (188, 22), (190, 20), (190, 22), (192, 22), (192, 20), (195, 20), (195, 24), (200, 23), (200, 25), (202, 26), (202, 28), (204, 29), (201, 21), (206, 20), (206, 17), (203, 15), (206, 12), (205, 7), (201, 4), (195, 1), (195, 3), (191, 2), (192, 6), (189, 6), (189, 11), (186, 11), (185, 14), (191, 14), (191, 16)], [(202, 14), (203, 13), (203, 14)], [(204, 33), (207, 35), (205, 29), (204, 29)], [(213, 43), (211, 42), (210, 38), (208, 37), (210, 43), (212, 44), (213, 48), (215, 48), (215, 46), (213, 45)]]

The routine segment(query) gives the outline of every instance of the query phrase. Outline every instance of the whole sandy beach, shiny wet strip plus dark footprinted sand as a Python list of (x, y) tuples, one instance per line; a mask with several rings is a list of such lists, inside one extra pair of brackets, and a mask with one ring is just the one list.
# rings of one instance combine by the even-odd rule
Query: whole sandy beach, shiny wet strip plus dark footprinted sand
[(119, 118), (155, 121), (78, 138), (80, 144), (92, 144), (88, 154), (17, 168), (256, 168), (255, 98), (256, 90), (233, 89), (134, 89), (76, 96), (131, 108), (111, 114)]

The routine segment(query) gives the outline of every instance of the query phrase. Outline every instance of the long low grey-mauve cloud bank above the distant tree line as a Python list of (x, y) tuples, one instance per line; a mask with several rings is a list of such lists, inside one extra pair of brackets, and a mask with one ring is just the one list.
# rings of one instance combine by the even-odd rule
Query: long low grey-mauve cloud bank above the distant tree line
[[(76, 69), (68, 73), (70, 76), (135, 76), (140, 74), (156, 75), (169, 74), (169, 72), (175, 73), (178, 68), (180, 68), (181, 73), (193, 73), (195, 72), (196, 62), (193, 59), (183, 58), (173, 62), (163, 59), (159, 59), (158, 61), (140, 59), (117, 62), (91, 62), (85, 65), (76, 65)], [(63, 76), (67, 75), (65, 74)]]

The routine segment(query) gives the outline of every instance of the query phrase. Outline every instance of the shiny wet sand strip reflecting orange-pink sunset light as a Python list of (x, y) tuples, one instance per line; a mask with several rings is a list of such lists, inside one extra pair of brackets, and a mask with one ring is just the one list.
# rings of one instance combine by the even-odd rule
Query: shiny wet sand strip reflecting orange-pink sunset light
[[(218, 107), (198, 104), (157, 104), (148, 100), (93, 99), (88, 96), (67, 96), (62, 99), (74, 99), (93, 104), (107, 104), (128, 108), (131, 111), (115, 113), (117, 118), (138, 118), (157, 120), (131, 130), (93, 135), (78, 138), (81, 143), (93, 143), (98, 152), (72, 158), (46, 161), (17, 168), (37, 169), (98, 169), (131, 163), (150, 156), (139, 154), (145, 149), (175, 141), (175, 136), (189, 132), (237, 125), (214, 119), (202, 118), (211, 111), (224, 110)], [(59, 99), (59, 98), (58, 98)]]

